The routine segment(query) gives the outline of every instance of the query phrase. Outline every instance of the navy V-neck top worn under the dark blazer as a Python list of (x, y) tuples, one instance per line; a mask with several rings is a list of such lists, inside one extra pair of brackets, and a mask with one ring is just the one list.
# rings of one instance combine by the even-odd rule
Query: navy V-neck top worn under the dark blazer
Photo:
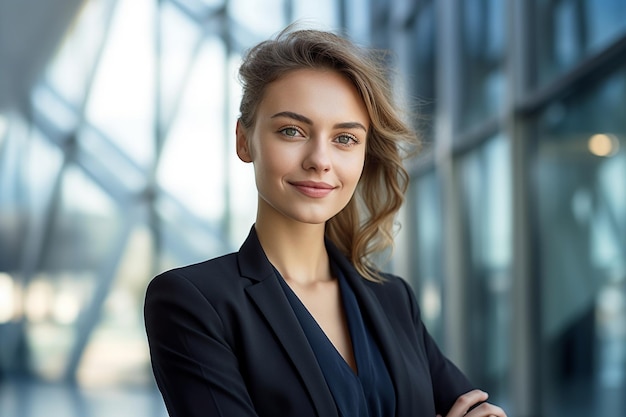
[[(357, 373), (343, 359), (298, 296), (279, 279), (313, 349), (341, 417), (395, 415), (396, 397), (378, 345), (365, 326), (358, 301), (339, 268), (334, 268), (352, 338)], [(280, 277), (280, 273), (276, 271)]]

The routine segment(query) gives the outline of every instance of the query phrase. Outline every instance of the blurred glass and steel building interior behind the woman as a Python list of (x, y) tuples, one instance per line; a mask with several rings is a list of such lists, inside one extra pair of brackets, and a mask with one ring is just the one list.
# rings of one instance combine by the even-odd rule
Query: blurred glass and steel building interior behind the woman
[(0, 0), (0, 416), (166, 416), (155, 274), (236, 250), (243, 50), (388, 49), (424, 151), (393, 261), (510, 417), (626, 415), (623, 0)]

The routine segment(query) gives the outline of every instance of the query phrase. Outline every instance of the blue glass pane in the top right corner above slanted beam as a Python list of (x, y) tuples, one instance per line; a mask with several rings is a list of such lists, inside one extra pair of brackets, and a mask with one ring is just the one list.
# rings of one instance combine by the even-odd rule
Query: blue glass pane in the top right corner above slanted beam
[(626, 32), (623, 0), (535, 0), (538, 79), (544, 84)]

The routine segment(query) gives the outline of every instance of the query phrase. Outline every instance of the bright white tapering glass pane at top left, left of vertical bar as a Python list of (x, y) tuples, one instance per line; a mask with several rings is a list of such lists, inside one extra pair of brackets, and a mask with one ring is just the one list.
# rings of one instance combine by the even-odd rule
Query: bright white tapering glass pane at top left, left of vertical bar
[(87, 105), (87, 120), (142, 167), (154, 157), (154, 21), (152, 0), (117, 3)]

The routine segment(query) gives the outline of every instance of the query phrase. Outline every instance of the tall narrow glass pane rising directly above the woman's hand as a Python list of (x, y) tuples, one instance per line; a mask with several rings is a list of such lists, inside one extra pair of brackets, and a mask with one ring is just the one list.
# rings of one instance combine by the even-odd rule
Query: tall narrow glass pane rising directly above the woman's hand
[(511, 173), (508, 142), (490, 139), (460, 161), (467, 227), (468, 373), (506, 407), (511, 366)]

